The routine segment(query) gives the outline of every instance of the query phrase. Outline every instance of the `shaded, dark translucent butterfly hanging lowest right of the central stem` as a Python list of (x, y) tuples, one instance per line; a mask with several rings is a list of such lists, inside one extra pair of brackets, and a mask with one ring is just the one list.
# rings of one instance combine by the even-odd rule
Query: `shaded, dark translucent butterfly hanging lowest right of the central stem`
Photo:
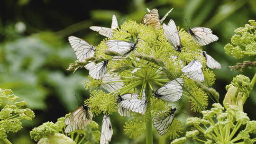
[(176, 108), (171, 108), (167, 114), (166, 112), (160, 112), (156, 117), (152, 118), (153, 125), (160, 135), (165, 135), (168, 132), (173, 120)]

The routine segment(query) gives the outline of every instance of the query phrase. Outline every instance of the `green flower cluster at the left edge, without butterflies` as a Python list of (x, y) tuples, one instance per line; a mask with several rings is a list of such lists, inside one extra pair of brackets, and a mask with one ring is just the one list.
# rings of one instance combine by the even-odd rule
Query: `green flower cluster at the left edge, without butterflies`
[(34, 112), (26, 108), (27, 102), (18, 101), (18, 96), (11, 90), (0, 89), (0, 140), (7, 138), (9, 132), (16, 133), (22, 129), (21, 120), (32, 120)]

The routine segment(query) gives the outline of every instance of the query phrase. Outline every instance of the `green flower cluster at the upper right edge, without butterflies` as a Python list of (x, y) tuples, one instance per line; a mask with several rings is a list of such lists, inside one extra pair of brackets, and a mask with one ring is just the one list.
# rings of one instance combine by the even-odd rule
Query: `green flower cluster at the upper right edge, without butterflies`
[(245, 27), (238, 27), (234, 36), (231, 38), (231, 44), (227, 44), (224, 50), (227, 54), (234, 56), (236, 59), (242, 58), (245, 54), (256, 54), (256, 21), (249, 20), (250, 24)]

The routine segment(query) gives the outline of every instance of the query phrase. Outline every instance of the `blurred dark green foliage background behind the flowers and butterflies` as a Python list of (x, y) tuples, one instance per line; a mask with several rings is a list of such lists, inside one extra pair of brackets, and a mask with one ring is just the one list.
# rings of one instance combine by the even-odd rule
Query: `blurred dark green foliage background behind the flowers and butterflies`
[[(219, 36), (217, 42), (204, 46), (204, 50), (222, 65), (221, 70), (214, 70), (217, 79), (214, 88), (219, 91), (222, 103), (225, 86), (239, 73), (230, 71), (228, 66), (254, 60), (254, 57), (236, 60), (225, 54), (223, 48), (237, 27), (256, 19), (256, 0), (0, 0), (0, 88), (13, 90), (36, 113), (33, 121), (24, 121), (21, 131), (9, 134), (9, 140), (13, 144), (35, 144), (29, 136), (33, 127), (56, 122), (78, 107), (74, 93), (81, 100), (88, 97), (83, 88), (88, 72), (66, 71), (69, 63), (76, 60), (68, 36), (97, 45), (104, 37), (96, 37), (90, 26), (110, 27), (113, 14), (119, 25), (125, 18), (140, 22), (146, 7), (157, 8), (160, 18), (174, 8), (165, 23), (172, 18), (177, 26), (187, 28), (186, 18), (190, 27), (209, 27)], [(242, 74), (252, 78), (255, 72), (250, 69)], [(189, 115), (179, 114), (180, 120), (195, 115), (188, 111), (189, 107), (181, 108)], [(252, 110), (255, 108), (256, 90), (244, 108), (252, 120), (256, 120)], [(102, 116), (94, 120), (101, 126)], [(126, 120), (118, 114), (111, 117), (114, 129), (111, 144), (144, 144), (143, 135), (131, 140), (124, 134)], [(154, 129), (155, 144), (158, 138)]]

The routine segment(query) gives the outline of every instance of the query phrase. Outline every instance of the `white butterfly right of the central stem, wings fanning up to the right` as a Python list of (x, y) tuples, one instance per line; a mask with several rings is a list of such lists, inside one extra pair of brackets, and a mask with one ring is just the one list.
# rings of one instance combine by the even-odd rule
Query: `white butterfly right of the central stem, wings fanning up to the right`
[(159, 89), (152, 91), (152, 93), (158, 99), (163, 99), (169, 102), (175, 102), (181, 99), (183, 92), (183, 84), (183, 78), (177, 78), (173, 81), (164, 84)]

